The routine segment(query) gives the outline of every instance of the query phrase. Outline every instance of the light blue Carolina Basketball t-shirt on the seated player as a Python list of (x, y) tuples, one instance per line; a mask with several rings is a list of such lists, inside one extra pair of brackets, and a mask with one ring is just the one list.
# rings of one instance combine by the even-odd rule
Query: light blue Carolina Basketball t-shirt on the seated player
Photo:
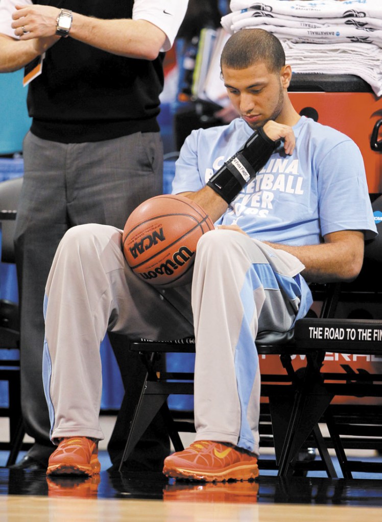
[[(302, 116), (293, 127), (291, 156), (283, 145), (244, 186), (215, 224), (237, 224), (260, 241), (309, 245), (340, 230), (376, 227), (362, 155), (354, 141)], [(198, 191), (239, 150), (253, 131), (240, 118), (192, 131), (180, 150), (172, 193)]]

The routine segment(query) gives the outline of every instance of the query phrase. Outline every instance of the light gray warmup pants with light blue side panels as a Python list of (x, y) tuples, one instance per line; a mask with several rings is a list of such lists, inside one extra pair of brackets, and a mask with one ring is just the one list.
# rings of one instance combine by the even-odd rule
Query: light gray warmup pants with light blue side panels
[(193, 315), (196, 440), (258, 453), (254, 339), (263, 329), (293, 326), (300, 282), (306, 285), (297, 274), (304, 266), (247, 235), (213, 230), (198, 243), (191, 298), (190, 284), (159, 292), (135, 276), (124, 261), (121, 238), (113, 227), (75, 227), (55, 255), (45, 295), (43, 355), (52, 439), (103, 438), (99, 346), (107, 329), (130, 338), (176, 339), (193, 333)]

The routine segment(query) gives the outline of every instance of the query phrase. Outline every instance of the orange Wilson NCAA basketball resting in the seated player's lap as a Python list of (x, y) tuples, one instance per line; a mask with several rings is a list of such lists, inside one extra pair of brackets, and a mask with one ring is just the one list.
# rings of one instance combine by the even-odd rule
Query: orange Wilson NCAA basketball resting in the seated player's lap
[(142, 280), (156, 287), (191, 281), (196, 244), (214, 224), (205, 211), (184, 196), (164, 194), (147, 199), (126, 221), (123, 253)]

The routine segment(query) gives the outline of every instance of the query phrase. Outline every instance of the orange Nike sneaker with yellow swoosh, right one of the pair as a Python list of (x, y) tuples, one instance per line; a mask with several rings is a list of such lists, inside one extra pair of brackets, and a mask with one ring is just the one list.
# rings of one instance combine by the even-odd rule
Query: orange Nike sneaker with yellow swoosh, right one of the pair
[(196, 441), (165, 459), (163, 473), (176, 479), (223, 482), (248, 480), (259, 475), (253, 453), (230, 444)]

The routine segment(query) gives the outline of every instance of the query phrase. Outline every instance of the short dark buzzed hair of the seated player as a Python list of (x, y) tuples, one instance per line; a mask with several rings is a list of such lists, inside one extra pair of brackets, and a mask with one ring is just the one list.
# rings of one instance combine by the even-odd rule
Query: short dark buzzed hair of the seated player
[(246, 69), (265, 63), (270, 73), (278, 73), (285, 65), (285, 53), (280, 40), (263, 29), (241, 29), (226, 42), (220, 64), (230, 69)]

